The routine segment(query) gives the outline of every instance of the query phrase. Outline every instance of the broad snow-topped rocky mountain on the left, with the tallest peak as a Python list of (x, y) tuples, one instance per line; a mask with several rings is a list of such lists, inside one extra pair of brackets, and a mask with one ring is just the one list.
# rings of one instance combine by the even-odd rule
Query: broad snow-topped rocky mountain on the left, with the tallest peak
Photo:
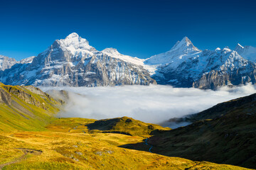
[(156, 84), (142, 60), (119, 54), (115, 49), (95, 50), (77, 33), (33, 58), (1, 73), (5, 84), (35, 86), (115, 86)]

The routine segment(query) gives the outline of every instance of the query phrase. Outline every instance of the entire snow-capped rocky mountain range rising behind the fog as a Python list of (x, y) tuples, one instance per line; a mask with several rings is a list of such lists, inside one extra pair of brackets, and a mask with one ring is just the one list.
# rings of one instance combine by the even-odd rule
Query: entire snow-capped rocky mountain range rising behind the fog
[(77, 33), (55, 40), (36, 57), (17, 62), (0, 56), (0, 81), (33, 86), (117, 86), (169, 84), (176, 87), (217, 89), (256, 82), (256, 47), (238, 44), (199, 50), (184, 37), (168, 52), (146, 60), (98, 51)]

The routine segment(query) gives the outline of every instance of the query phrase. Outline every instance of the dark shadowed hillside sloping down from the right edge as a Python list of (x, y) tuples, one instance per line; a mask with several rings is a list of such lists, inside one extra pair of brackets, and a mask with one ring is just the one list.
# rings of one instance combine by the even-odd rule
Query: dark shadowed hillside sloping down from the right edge
[(220, 103), (197, 117), (213, 119), (150, 137), (152, 152), (256, 169), (255, 98), (253, 94)]

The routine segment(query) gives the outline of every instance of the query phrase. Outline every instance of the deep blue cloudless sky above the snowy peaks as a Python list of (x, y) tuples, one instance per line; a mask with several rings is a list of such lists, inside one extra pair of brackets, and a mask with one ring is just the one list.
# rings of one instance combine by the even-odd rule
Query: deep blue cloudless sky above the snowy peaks
[(0, 55), (38, 55), (78, 33), (97, 50), (147, 58), (188, 36), (201, 50), (256, 47), (256, 1), (1, 1)]

